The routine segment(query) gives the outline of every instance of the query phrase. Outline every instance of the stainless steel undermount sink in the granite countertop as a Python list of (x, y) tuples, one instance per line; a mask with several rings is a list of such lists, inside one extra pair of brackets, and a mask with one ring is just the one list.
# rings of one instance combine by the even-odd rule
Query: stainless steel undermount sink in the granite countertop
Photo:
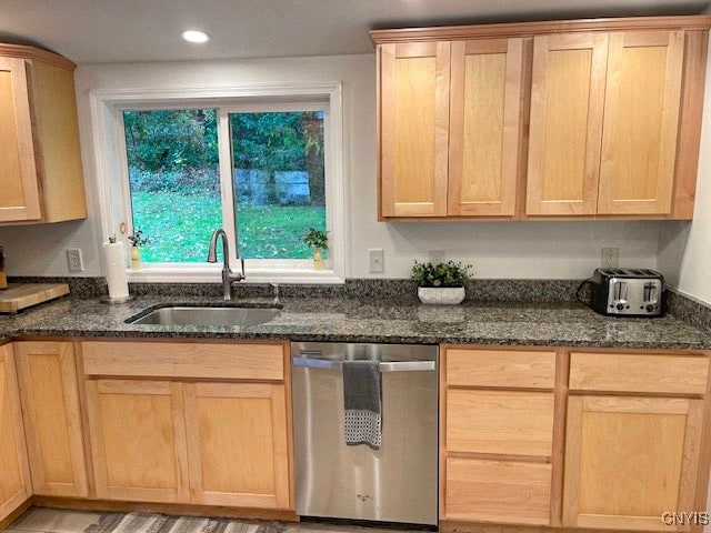
[(259, 325), (273, 320), (273, 308), (210, 308), (173, 305), (154, 309), (127, 320), (130, 324), (159, 325)]

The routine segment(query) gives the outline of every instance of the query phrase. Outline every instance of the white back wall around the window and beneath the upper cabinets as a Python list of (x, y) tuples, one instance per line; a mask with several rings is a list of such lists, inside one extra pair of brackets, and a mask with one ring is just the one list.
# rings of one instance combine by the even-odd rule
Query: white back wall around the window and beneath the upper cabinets
[[(23, 275), (69, 275), (64, 250), (81, 248), (82, 275), (99, 275), (96, 177), (88, 91), (139, 88), (216, 88), (251, 83), (343, 83), (344, 161), (350, 191), (347, 275), (368, 273), (368, 249), (384, 250), (385, 276), (409, 274), (429, 249), (473, 265), (479, 278), (584, 278), (599, 264), (600, 248), (620, 249), (620, 263), (657, 266), (662, 222), (377, 222), (374, 54), (251, 61), (83, 66), (76, 73), (82, 159), (90, 193), (90, 220), (0, 229), (8, 271)], [(97, 228), (97, 231), (94, 231)]]

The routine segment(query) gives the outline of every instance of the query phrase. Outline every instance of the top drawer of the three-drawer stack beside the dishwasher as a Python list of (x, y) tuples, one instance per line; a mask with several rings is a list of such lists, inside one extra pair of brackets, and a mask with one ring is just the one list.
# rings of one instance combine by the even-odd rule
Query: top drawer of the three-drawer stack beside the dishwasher
[(553, 389), (555, 353), (502, 350), (447, 351), (447, 384)]

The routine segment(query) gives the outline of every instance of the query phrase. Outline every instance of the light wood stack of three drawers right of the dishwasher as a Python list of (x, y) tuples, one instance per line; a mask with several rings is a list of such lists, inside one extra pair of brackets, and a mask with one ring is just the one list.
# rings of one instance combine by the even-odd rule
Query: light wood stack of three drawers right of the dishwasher
[(443, 346), (440, 517), (550, 525), (555, 353)]

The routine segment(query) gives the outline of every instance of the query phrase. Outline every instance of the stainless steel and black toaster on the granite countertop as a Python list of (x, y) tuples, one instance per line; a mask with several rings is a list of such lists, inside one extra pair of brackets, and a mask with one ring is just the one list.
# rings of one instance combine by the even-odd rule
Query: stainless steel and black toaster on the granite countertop
[(595, 269), (590, 306), (601, 314), (660, 316), (664, 313), (664, 276), (649, 269)]

